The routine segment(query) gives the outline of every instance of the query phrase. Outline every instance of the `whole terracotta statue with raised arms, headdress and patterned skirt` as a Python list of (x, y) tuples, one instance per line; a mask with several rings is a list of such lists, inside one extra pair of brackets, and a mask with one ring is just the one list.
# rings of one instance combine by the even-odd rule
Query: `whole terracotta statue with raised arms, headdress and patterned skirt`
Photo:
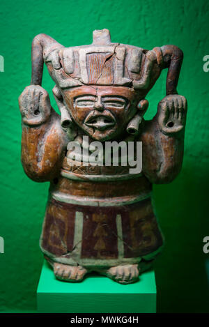
[[(173, 181), (183, 162), (187, 101), (176, 91), (182, 61), (175, 45), (148, 51), (111, 43), (107, 29), (80, 47), (45, 34), (33, 39), (31, 85), (19, 98), (22, 165), (33, 181), (50, 182), (40, 248), (60, 280), (80, 282), (95, 271), (135, 282), (162, 249), (151, 192), (153, 183)], [(61, 115), (41, 86), (44, 62)], [(146, 121), (146, 94), (164, 68), (167, 96)], [(120, 160), (86, 161), (95, 141), (142, 142), (142, 170), (132, 174)], [(70, 142), (82, 149), (80, 162)]]

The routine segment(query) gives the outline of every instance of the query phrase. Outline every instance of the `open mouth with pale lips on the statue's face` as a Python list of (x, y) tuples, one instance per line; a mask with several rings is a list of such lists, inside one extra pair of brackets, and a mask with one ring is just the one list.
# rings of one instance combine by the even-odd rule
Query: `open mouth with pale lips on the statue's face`
[(116, 125), (116, 120), (110, 112), (107, 112), (107, 114), (95, 114), (95, 112), (91, 112), (86, 117), (84, 124), (97, 130), (107, 130)]

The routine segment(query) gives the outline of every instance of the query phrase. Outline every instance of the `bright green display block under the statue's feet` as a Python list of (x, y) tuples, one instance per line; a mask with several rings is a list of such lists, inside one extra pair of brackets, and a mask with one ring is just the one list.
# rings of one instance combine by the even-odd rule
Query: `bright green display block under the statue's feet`
[(156, 294), (154, 271), (143, 273), (134, 284), (122, 285), (94, 274), (72, 283), (56, 280), (44, 262), (37, 289), (38, 312), (156, 312)]

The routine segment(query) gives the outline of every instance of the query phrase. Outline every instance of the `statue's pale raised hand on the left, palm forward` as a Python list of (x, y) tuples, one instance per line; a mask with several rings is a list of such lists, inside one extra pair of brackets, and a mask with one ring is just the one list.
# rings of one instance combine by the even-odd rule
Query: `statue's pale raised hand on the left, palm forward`
[(39, 85), (26, 86), (19, 97), (19, 106), (26, 125), (45, 123), (51, 114), (49, 94)]

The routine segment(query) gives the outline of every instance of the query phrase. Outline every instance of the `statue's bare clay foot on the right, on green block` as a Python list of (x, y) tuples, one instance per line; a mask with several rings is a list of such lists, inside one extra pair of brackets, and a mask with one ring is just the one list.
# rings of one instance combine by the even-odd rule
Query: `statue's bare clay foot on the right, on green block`
[(139, 278), (139, 268), (137, 264), (126, 264), (123, 266), (111, 267), (107, 271), (107, 277), (121, 284), (131, 284), (137, 282)]

